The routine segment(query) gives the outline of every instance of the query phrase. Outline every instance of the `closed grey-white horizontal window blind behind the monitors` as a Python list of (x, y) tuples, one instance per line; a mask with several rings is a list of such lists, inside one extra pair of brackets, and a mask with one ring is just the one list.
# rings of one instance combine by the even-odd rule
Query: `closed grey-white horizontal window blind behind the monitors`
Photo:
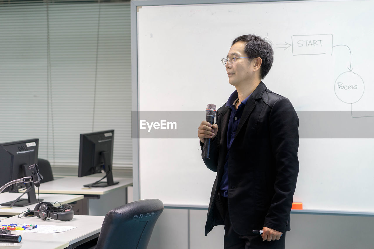
[(129, 1), (3, 1), (0, 23), (0, 142), (77, 166), (80, 133), (114, 129), (113, 166), (131, 167)]

